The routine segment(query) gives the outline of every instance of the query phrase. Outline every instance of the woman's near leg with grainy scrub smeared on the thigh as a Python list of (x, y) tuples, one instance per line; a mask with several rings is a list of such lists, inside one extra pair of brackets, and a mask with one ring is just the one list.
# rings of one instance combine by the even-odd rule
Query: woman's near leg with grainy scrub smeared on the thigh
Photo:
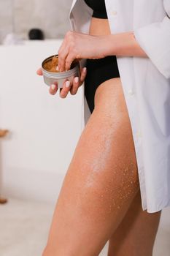
[(43, 256), (97, 256), (122, 221), (139, 178), (120, 78), (98, 86), (95, 109), (63, 181)]

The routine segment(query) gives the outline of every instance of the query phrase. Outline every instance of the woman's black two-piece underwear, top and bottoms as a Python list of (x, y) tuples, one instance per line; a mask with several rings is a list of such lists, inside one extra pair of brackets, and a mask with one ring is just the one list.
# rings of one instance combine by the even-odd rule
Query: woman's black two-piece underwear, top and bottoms
[[(104, 0), (85, 0), (85, 3), (93, 9), (92, 17), (107, 18)], [(107, 56), (102, 59), (87, 59), (86, 67), (85, 98), (87, 99), (88, 107), (92, 113), (94, 109), (94, 95), (97, 87), (111, 78), (120, 78), (120, 74), (117, 67), (116, 56)]]

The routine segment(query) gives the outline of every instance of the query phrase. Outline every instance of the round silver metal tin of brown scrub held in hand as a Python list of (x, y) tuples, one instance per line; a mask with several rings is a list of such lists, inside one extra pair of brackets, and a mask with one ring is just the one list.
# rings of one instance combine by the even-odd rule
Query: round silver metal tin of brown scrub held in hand
[(51, 86), (52, 84), (58, 84), (58, 88), (63, 88), (63, 83), (66, 80), (69, 80), (71, 83), (75, 77), (80, 78), (80, 62), (73, 62), (71, 65), (71, 69), (65, 72), (49, 72), (44, 68), (44, 65), (53, 59), (53, 57), (58, 57), (57, 55), (53, 55), (42, 61), (42, 74), (45, 83), (47, 86)]

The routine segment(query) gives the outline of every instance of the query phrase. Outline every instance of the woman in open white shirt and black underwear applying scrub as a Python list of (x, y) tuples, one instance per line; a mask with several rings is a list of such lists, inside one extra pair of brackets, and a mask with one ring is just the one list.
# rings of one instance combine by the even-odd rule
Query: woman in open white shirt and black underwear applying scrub
[(96, 256), (108, 240), (108, 256), (152, 255), (170, 205), (169, 15), (169, 0), (73, 1), (58, 68), (87, 59), (87, 75), (60, 96), (85, 86), (86, 121), (43, 256)]

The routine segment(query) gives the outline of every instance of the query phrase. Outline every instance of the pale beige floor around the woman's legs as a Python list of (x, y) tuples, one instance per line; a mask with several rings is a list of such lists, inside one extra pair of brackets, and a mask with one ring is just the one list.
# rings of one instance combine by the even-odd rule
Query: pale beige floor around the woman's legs
[[(0, 255), (41, 256), (54, 205), (10, 198), (0, 205)], [(165, 208), (155, 241), (153, 256), (170, 255), (170, 208)], [(99, 256), (107, 256), (104, 246)], [(137, 255), (136, 255), (137, 256)]]

